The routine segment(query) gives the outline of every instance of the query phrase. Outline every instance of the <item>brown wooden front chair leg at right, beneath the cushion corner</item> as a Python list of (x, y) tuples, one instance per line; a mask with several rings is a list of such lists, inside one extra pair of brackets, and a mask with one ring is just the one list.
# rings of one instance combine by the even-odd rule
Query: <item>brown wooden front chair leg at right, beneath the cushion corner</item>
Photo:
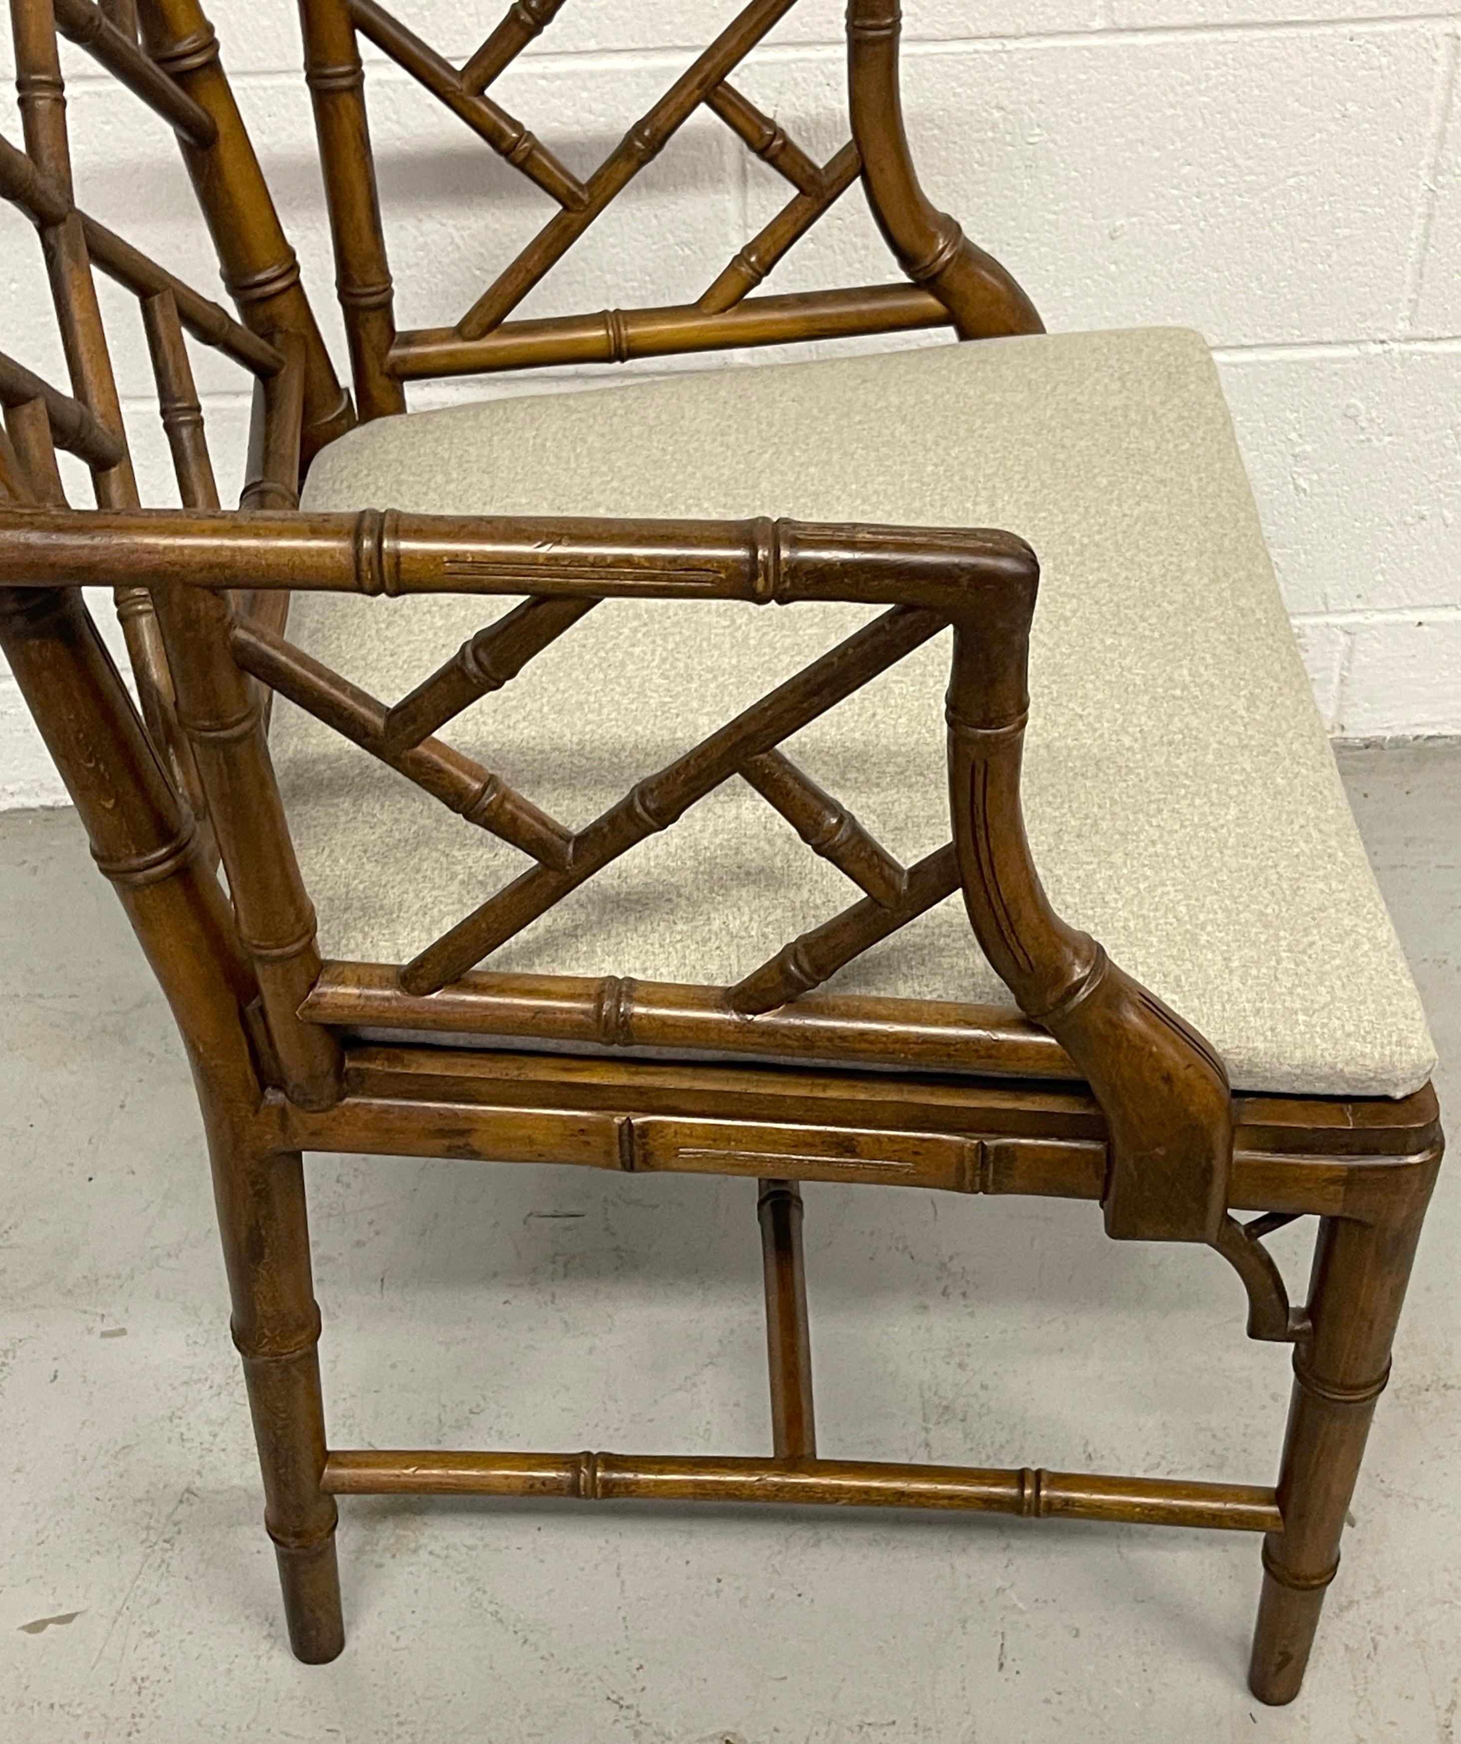
[(1294, 1352), (1294, 1393), (1278, 1475), (1283, 1531), (1264, 1538), (1264, 1585), (1248, 1686), (1261, 1702), (1292, 1702), (1304, 1681), (1325, 1589), (1360, 1474), (1376, 1399), (1437, 1160), (1417, 1175), (1402, 1216), (1330, 1217), (1320, 1226), (1309, 1291), (1313, 1334)]

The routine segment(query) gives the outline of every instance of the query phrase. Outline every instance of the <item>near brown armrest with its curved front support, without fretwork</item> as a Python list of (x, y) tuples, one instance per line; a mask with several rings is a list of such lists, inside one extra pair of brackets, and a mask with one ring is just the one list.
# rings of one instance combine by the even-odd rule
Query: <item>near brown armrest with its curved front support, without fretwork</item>
[(1212, 1048), (1051, 909), (1020, 811), (1039, 565), (1013, 534), (814, 525), (356, 514), (0, 511), (0, 586), (657, 596), (893, 605), (954, 624), (948, 769), (975, 935), (1107, 1118), (1107, 1233), (1212, 1242), (1233, 1156)]

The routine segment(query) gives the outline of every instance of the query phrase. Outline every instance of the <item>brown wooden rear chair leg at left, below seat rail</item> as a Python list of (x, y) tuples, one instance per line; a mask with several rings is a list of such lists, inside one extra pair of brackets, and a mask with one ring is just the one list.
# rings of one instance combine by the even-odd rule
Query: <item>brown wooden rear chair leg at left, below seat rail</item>
[(335, 1498), (319, 1488), (324, 1404), (303, 1163), (298, 1151), (260, 1153), (227, 1130), (211, 1149), (234, 1343), (244, 1359), (263, 1523), (279, 1559), (289, 1646), (296, 1659), (321, 1666), (343, 1648), (345, 1625)]

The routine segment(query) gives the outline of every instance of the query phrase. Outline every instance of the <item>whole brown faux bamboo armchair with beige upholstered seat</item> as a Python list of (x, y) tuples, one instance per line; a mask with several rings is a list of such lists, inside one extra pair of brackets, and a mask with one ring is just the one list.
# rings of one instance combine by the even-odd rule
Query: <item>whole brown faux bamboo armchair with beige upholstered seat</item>
[[(561, 5), (518, 0), (459, 68), (375, 0), (302, 0), (352, 399), (321, 342), (197, 0), (10, 0), (24, 148), (0, 143), (0, 188), (38, 230), (71, 382), (63, 391), (0, 359), (0, 645), (192, 1060), (293, 1648), (323, 1662), (343, 1645), (333, 1543), (340, 1495), (978, 1509), (1261, 1533), (1250, 1681), (1262, 1700), (1287, 1702), (1337, 1568), (1442, 1139), (1424, 1020), (1304, 692), (1205, 351), (1182, 335), (1039, 337), (1029, 296), (919, 187), (900, 113), (896, 0), (851, 0), (851, 140), (830, 160), (816, 162), (730, 82), (793, 5), (751, 0), (586, 180), (492, 94)], [(176, 131), (237, 319), (77, 208), (58, 30)], [(361, 35), (554, 208), (450, 328), (394, 324)], [(790, 185), (760, 232), (694, 303), (518, 314), (703, 110)], [(751, 295), (854, 185), (905, 283)], [(181, 511), (139, 504), (96, 270), (141, 305)], [(399, 417), (406, 384), (429, 377), (933, 326), (982, 344)], [(237, 511), (220, 509), (190, 342), (214, 347), (256, 382)], [(907, 415), (900, 396), (908, 396)], [(1062, 450), (1065, 474), (1039, 474), (1036, 450), (1058, 446), (1084, 415), (1090, 429)], [(1198, 426), (1206, 434), (1194, 436)], [(1022, 433), (1032, 433), (1029, 452)], [(901, 474), (893, 467), (889, 485), (873, 462), (900, 443), (910, 459)], [(722, 471), (711, 462), (696, 471), (699, 450), (717, 446), (729, 453), (717, 462)], [(58, 448), (89, 469), (96, 508), (66, 502)], [(835, 478), (818, 485), (823, 448), (835, 450)], [(561, 466), (546, 466), (544, 453)], [(1100, 474), (1109, 460), (1118, 473), (1090, 478), (1070, 455), (1084, 455), (1086, 471)], [(1131, 485), (1119, 476), (1126, 460), (1145, 467)], [(996, 476), (999, 466), (1009, 476)], [(1097, 516), (1116, 504), (1114, 562), (1102, 555), (1100, 528), (1051, 521), (1046, 539), (1043, 506), (1062, 495), (1077, 509), (1090, 497)], [(1159, 514), (1151, 509), (1158, 495)], [(887, 513), (905, 502), (915, 513)], [(999, 520), (1013, 530), (968, 525), (961, 504), (982, 502), (1011, 506)], [(788, 506), (800, 518), (772, 518)], [(1015, 514), (1029, 518), (1015, 525)], [(1055, 642), (1046, 654), (1039, 640), (1037, 553), (1057, 588), (1051, 637), (1065, 635), (1074, 649), (1063, 666)], [(139, 710), (78, 591), (96, 584), (115, 589)], [(1138, 595), (1130, 619), (1119, 616), (1123, 586)], [(1280, 818), (1266, 835), (1255, 827), (1236, 844), (1226, 882), (1234, 842), (1224, 776), (1203, 760), (1206, 739), (1198, 743), (1215, 731), (1198, 706), (1210, 671), (1198, 659), (1196, 675), (1182, 678), (1175, 656), (1142, 671), (1130, 644), (1121, 654), (1130, 684), (1112, 685), (1100, 638), (1079, 617), (1083, 589), (1105, 589), (1098, 610), (1116, 612), (1118, 630), (1180, 617), (1184, 588), (1208, 616), (1179, 623), (1179, 635), (1203, 644), (1201, 657), (1229, 661), (1240, 689), (1243, 673), (1259, 673), (1233, 701), (1238, 726), (1224, 729), (1243, 755), (1267, 759), (1245, 780), (1283, 787), (1288, 771), (1306, 771), (1295, 788), (1306, 816)], [(352, 595), (404, 603), (368, 607)], [(520, 603), (502, 610), (504, 598)], [(1060, 631), (1065, 600), (1077, 602), (1076, 616)], [(765, 603), (793, 610), (750, 614)], [(696, 614), (710, 630), (683, 628)], [(408, 621), (427, 623), (429, 635), (418, 638)], [(771, 638), (739, 628), (751, 623), (774, 624)], [(431, 661), (411, 666), (462, 624), (457, 654), (434, 671)], [(919, 705), (929, 659), (947, 670), (933, 644), (950, 626), (945, 787), (936, 739), (919, 738)], [(807, 637), (816, 657), (757, 694), (751, 680), (778, 670), (772, 644), (790, 638), (800, 657)], [(511, 764), (521, 729), (532, 753), (523, 766), (570, 792), (565, 734), (596, 731), (598, 663), (628, 649), (631, 671), (652, 675), (661, 644), (673, 647), (669, 666), (713, 651), (696, 694), (682, 694), (687, 720), (697, 708), (711, 713), (708, 729), (687, 732), (656, 773), (575, 828), (499, 773), (493, 764)], [(586, 652), (574, 656), (575, 647)], [(399, 663), (418, 682), (382, 703), (342, 677), (336, 659), (357, 677), (373, 671), (382, 689), (399, 682)], [(523, 677), (532, 661), (568, 685), (556, 701), (520, 701), (535, 680)], [(722, 680), (730, 692), (724, 724), (715, 713)], [(1100, 902), (1090, 898), (1088, 909), (1081, 867), (1114, 865), (1111, 924), (1133, 940), (1159, 992), (1212, 1013), (1203, 1018), (1212, 1041), (1067, 924), (1036, 872), (1022, 820), (1027, 715), (1037, 746), (1041, 722), (1058, 720), (1077, 692), (1076, 797), (1060, 800), (1076, 811), (1055, 806), (1057, 823), (1036, 830), (1041, 858), (1046, 849), (1057, 862), (1074, 856), (1058, 895), (1083, 917)], [(861, 706), (863, 694), (872, 713), (847, 717), (863, 734), (853, 762), (891, 759), (873, 809), (893, 816), (889, 794), (914, 787), (924, 825), (945, 814), (910, 865), (783, 748), (798, 736), (798, 755), (819, 746), (835, 766), (844, 717), (819, 739), (818, 724), (837, 705)], [(1102, 722), (1114, 722), (1109, 738)], [(439, 739), (448, 724), (495, 746), (493, 762)], [(621, 734), (629, 750), (642, 738), (642, 755), (656, 757), (663, 715), (650, 708), (629, 727)], [(1198, 734), (1198, 748), (1144, 799), (1140, 746), (1184, 731)], [(907, 746), (898, 748), (900, 734), (912, 734)], [(1125, 762), (1102, 764), (1107, 752)], [(1079, 823), (1081, 795), (1107, 787), (1131, 807), (1125, 837), (1119, 806), (1107, 835)], [(727, 797), (732, 790), (737, 797)], [(1048, 787), (1041, 804), (1051, 809)], [(692, 837), (694, 820), (715, 806)], [(757, 820), (774, 825), (779, 814), (790, 832), (771, 842), (751, 830), (750, 858), (715, 860), (722, 837), (744, 835), (750, 807), (769, 807)], [(427, 813), (432, 821), (420, 821)], [(450, 851), (443, 879), (422, 846), (434, 842), (438, 820), (465, 842)], [(1165, 863), (1151, 886), (1137, 882), (1147, 827), (1173, 832), (1158, 849), (1170, 867), (1193, 844), (1191, 888), (1173, 895), (1179, 872), (1163, 884)], [(656, 841), (673, 855), (683, 839), (690, 858), (671, 889), (661, 872), (673, 862), (649, 856)], [(380, 862), (363, 874), (371, 849)], [(762, 851), (772, 895), (785, 886), (795, 896), (802, 867), (821, 882), (788, 902), (814, 924), (758, 957), (758, 928), (778, 926), (776, 903), (755, 884)], [(697, 862), (701, 853), (710, 858)], [(624, 891), (640, 863), (650, 898), (635, 910)], [(499, 879), (499, 865), (516, 875)], [(1266, 912), (1269, 875), (1313, 893), (1302, 924)], [(860, 896), (828, 910), (839, 877)], [(586, 886), (608, 888), (598, 909)], [(1140, 910), (1130, 923), (1123, 889)], [(328, 896), (328, 959), (307, 891)], [(950, 919), (955, 895), (966, 919)], [(664, 973), (664, 963), (683, 959), (664, 956), (663, 935), (678, 923), (676, 903), (696, 898), (711, 912), (690, 926), (683, 952), (708, 968)], [(1205, 905), (1222, 902), (1238, 916), (1226, 956), (1203, 930)], [(438, 912), (450, 921), (439, 933)], [(1334, 914), (1348, 928), (1339, 944)], [(1163, 966), (1159, 942), (1144, 944), (1140, 931), (1158, 921), (1163, 938), (1194, 938), (1194, 949), (1170, 952)], [(910, 968), (889, 952), (919, 937), (919, 924), (945, 931)], [(628, 961), (605, 964), (612, 973), (547, 973), (530, 945), (544, 928), (546, 959), (561, 947), (560, 968), (603, 964), (621, 945)], [(1248, 961), (1243, 931), (1288, 964), (1283, 985), (1302, 989), (1283, 994), (1292, 1010), (1274, 1017), (1273, 987), (1240, 987), (1236, 1003), (1224, 1003)], [(406, 940), (399, 950), (398, 938)], [(1355, 952), (1346, 959), (1353, 975), (1330, 999), (1316, 977), (1334, 970), (1341, 947)], [(734, 964), (722, 970), (724, 984), (708, 984), (724, 963)], [(987, 998), (975, 998), (982, 989)], [(772, 1454), (328, 1446), (307, 1149), (760, 1179)], [(1247, 1291), (1248, 1334), (1294, 1346), (1276, 1486), (818, 1458), (802, 1179), (1098, 1202), (1109, 1236), (1217, 1249)], [(1320, 1223), (1299, 1306), (1262, 1238), (1302, 1216)]]

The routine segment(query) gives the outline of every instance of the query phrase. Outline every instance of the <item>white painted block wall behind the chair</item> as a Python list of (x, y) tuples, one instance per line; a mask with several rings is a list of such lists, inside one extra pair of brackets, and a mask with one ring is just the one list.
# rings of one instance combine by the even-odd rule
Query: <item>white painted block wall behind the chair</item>
[[(500, 0), (399, 0), (457, 59), (500, 10)], [(732, 0), (570, 0), (504, 77), (504, 101), (588, 173), (734, 10)], [(343, 358), (293, 3), (213, 0), (213, 12)], [(846, 136), (840, 12), (842, 0), (802, 0), (743, 75), (823, 153)], [(905, 0), (905, 40), (926, 183), (1008, 262), (1051, 328), (1189, 324), (1215, 347), (1332, 731), (1461, 732), (1461, 10)], [(89, 61), (66, 58), (84, 204), (213, 288), (171, 136)], [(547, 208), (403, 73), (368, 59), (398, 317), (446, 323)], [(779, 197), (783, 185), (701, 117), (527, 312), (694, 296)], [(9, 213), (0, 248), (7, 349), (59, 375), (35, 242)], [(772, 288), (886, 277), (886, 249), (853, 194)], [(119, 316), (145, 487), (173, 501), (138, 319), (129, 298), (105, 300)], [(244, 384), (207, 354), (199, 380), (225, 492), (235, 490)], [(568, 385), (537, 377), (492, 391)], [(415, 403), (467, 391), (445, 384)], [(0, 670), (0, 806), (61, 797)]]

